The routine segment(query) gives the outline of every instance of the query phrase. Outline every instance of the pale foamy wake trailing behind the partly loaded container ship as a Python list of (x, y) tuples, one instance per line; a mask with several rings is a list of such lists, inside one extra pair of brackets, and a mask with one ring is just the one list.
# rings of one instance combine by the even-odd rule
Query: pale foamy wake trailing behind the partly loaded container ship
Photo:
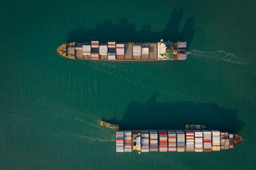
[(232, 64), (239, 64), (244, 65), (246, 62), (242, 62), (239, 60), (239, 57), (235, 55), (234, 53), (225, 52), (223, 50), (218, 50), (217, 52), (203, 52), (200, 50), (190, 50), (189, 55), (195, 55), (196, 57), (200, 58), (214, 58), (214, 59), (220, 59), (225, 62), (230, 62)]

